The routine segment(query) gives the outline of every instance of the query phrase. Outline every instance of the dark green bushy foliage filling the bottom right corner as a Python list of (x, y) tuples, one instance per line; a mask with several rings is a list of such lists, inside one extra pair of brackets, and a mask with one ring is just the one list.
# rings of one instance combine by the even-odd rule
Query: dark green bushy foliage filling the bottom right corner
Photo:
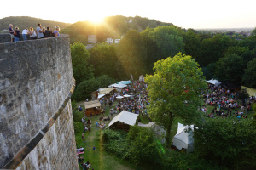
[(256, 168), (256, 130), (250, 119), (209, 119), (194, 131), (196, 155), (229, 169)]

